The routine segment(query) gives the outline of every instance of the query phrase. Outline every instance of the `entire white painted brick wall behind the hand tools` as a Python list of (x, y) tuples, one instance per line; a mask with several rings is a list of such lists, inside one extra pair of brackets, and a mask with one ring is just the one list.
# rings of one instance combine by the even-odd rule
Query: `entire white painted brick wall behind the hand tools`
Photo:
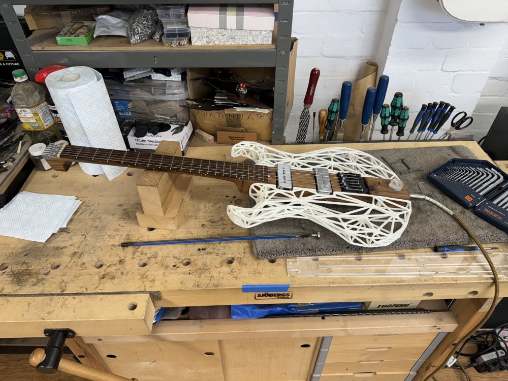
[(395, 91), (404, 92), (411, 109), (409, 128), (422, 103), (442, 99), (457, 110), (474, 110), (475, 122), (465, 132), (480, 138), (496, 109), (508, 106), (508, 43), (502, 48), (508, 26), (455, 21), (434, 0), (296, 0), (293, 35), (300, 42), (294, 106), (285, 133), (290, 143), (314, 67), (321, 77), (311, 115), (327, 108), (339, 96), (342, 81), (355, 82), (372, 59), (379, 64), (378, 74), (390, 76), (386, 102)]

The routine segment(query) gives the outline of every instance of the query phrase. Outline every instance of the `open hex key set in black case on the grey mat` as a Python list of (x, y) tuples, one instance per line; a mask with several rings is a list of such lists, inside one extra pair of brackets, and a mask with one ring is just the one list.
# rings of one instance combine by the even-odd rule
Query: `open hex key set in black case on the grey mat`
[(508, 233), (508, 175), (485, 160), (452, 159), (428, 179), (463, 207)]

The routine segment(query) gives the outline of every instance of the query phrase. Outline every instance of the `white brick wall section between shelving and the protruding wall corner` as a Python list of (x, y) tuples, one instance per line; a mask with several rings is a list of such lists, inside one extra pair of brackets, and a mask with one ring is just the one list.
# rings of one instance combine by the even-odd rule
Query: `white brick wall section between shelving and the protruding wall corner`
[[(393, 1), (393, 0), (392, 0)], [(310, 108), (328, 108), (343, 81), (355, 81), (365, 62), (375, 57), (388, 0), (296, 0), (293, 36), (298, 37), (295, 99), (285, 136), (296, 139), (303, 98), (312, 68), (321, 71)], [(317, 118), (316, 118), (317, 119)], [(317, 125), (317, 121), (316, 121)], [(312, 139), (312, 120), (307, 141)]]

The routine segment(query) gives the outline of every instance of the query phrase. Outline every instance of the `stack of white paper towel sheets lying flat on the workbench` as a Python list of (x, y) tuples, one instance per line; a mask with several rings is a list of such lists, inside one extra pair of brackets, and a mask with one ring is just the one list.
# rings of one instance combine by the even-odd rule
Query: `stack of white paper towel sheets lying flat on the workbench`
[(0, 209), (0, 235), (46, 242), (67, 226), (80, 204), (74, 196), (21, 192)]

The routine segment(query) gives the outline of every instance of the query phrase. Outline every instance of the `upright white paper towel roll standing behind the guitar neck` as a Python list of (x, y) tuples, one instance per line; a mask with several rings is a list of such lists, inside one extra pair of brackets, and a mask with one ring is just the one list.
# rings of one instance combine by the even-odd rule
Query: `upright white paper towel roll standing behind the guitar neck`
[[(46, 78), (62, 124), (73, 145), (126, 151), (113, 106), (102, 75), (92, 68), (76, 66), (58, 70)], [(79, 163), (84, 173), (106, 173), (109, 180), (125, 168)]]

